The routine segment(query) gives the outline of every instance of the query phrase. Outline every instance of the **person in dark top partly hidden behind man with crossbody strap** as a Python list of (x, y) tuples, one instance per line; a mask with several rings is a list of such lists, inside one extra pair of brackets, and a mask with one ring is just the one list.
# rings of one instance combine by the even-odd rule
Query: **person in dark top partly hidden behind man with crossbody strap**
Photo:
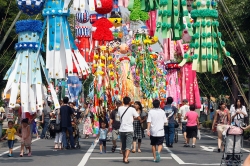
[(120, 122), (120, 117), (118, 116), (118, 108), (122, 105), (121, 100), (117, 100), (115, 102), (116, 104), (116, 109), (114, 109), (111, 114), (110, 114), (110, 122), (109, 122), (109, 127), (112, 129), (112, 142), (113, 142), (113, 147), (112, 147), (112, 152), (115, 152), (116, 150), (116, 141), (119, 136), (119, 128), (121, 125)]

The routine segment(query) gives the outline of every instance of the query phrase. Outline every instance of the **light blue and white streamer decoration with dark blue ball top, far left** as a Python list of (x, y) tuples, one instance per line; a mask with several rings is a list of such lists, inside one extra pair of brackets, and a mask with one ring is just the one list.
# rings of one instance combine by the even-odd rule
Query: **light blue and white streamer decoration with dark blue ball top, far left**
[[(23, 112), (36, 112), (43, 109), (43, 99), (45, 99), (42, 85), (43, 70), (47, 83), (49, 84), (51, 95), (55, 107), (60, 108), (56, 92), (48, 78), (48, 72), (40, 53), (41, 36), (45, 29), (41, 21), (22, 20), (16, 22), (16, 32), (18, 33), (18, 43), (15, 48), (16, 58), (7, 71), (4, 80), (7, 85), (4, 89), (4, 98), (10, 94), (9, 107), (14, 108), (20, 89), (21, 107)], [(36, 108), (38, 105), (38, 108)]]

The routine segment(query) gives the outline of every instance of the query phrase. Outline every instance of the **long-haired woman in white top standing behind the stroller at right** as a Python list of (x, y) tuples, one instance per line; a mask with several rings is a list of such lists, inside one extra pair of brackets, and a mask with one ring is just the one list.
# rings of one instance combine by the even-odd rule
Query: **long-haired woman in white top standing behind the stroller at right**
[(240, 99), (235, 100), (235, 104), (230, 108), (230, 113), (232, 116), (232, 122), (237, 126), (241, 126), (242, 123), (244, 123), (244, 118), (247, 117), (246, 107), (242, 105)]

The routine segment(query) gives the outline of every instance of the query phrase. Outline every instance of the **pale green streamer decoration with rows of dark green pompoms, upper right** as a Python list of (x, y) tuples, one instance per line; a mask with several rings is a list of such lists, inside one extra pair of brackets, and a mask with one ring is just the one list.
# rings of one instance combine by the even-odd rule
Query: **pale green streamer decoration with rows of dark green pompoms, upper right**
[(183, 66), (189, 56), (193, 60), (192, 69), (197, 72), (217, 73), (222, 69), (223, 54), (236, 65), (230, 53), (225, 48), (225, 42), (219, 32), (217, 3), (212, 0), (196, 1), (191, 16), (194, 19), (194, 35), (190, 50), (185, 53), (180, 66)]

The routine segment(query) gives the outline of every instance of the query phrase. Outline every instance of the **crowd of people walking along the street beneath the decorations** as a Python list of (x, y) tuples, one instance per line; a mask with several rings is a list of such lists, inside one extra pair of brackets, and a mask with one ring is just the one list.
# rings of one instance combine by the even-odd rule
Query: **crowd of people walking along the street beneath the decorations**
[[(20, 118), (20, 127), (13, 127), (14, 122), (8, 121), (8, 129), (6, 135), (1, 140), (7, 138), (9, 146), (9, 157), (13, 156), (12, 149), (14, 146), (15, 135), (21, 137), (20, 157), (28, 150), (28, 156), (31, 156), (31, 140), (33, 134), (38, 135), (37, 126), (41, 124), (42, 132), (40, 138), (46, 138), (46, 134), (51, 129), (52, 121), (53, 132), (50, 131), (49, 136), (55, 138), (55, 149), (75, 149), (76, 139), (74, 138), (74, 130), (80, 123), (83, 124), (82, 134), (88, 139), (94, 133), (94, 117), (98, 117), (99, 130), (96, 133), (96, 140), (99, 142), (100, 154), (106, 153), (106, 142), (109, 134), (112, 136), (111, 151), (115, 152), (117, 146), (121, 147), (120, 153), (123, 155), (123, 162), (129, 163), (129, 154), (141, 153), (141, 143), (146, 135), (150, 137), (154, 162), (160, 162), (160, 154), (162, 145), (165, 140), (166, 146), (173, 147), (175, 128), (181, 125), (184, 136), (184, 147), (196, 147), (197, 132), (200, 128), (199, 115), (195, 111), (195, 105), (189, 105), (188, 100), (184, 99), (179, 110), (173, 106), (173, 98), (168, 97), (165, 106), (161, 108), (159, 100), (153, 101), (153, 108), (146, 110), (141, 102), (132, 102), (129, 97), (124, 97), (123, 101), (115, 102), (115, 109), (108, 110), (101, 107), (98, 111), (93, 112), (92, 102), (85, 102), (82, 107), (76, 107), (75, 103), (69, 102), (69, 98), (65, 97), (60, 103), (60, 109), (52, 109), (52, 103), (45, 103), (41, 114), (25, 113)], [(218, 152), (223, 151), (222, 134), (228, 125), (241, 126), (244, 129), (250, 126), (244, 126), (244, 118), (248, 116), (245, 106), (242, 105), (240, 99), (227, 109), (226, 104), (221, 102), (219, 108), (214, 114), (212, 130), (218, 133)], [(21, 114), (20, 114), (21, 117)], [(146, 127), (143, 126), (146, 124)], [(73, 129), (74, 128), (74, 129)], [(117, 140), (120, 139), (120, 145)], [(192, 139), (192, 145), (190, 145)]]

